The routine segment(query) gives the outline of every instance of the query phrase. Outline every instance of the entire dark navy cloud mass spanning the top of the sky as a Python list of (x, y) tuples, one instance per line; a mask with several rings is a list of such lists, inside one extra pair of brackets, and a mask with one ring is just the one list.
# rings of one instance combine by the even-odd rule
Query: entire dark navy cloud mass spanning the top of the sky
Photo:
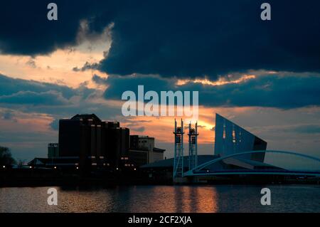
[(58, 21), (46, 19), (49, 2), (1, 3), (2, 52), (36, 55), (72, 46), (86, 19), (92, 33), (114, 23), (109, 55), (99, 66), (110, 74), (216, 78), (249, 69), (320, 70), (316, 0), (270, 0), (272, 21), (260, 19), (261, 0), (57, 0)]

